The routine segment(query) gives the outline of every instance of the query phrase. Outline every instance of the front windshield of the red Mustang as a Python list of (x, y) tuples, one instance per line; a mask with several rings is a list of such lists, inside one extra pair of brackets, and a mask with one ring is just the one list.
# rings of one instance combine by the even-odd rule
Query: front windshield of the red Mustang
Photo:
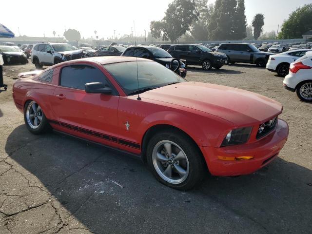
[(130, 61), (106, 64), (127, 95), (143, 93), (172, 83), (185, 82), (165, 66), (154, 61)]

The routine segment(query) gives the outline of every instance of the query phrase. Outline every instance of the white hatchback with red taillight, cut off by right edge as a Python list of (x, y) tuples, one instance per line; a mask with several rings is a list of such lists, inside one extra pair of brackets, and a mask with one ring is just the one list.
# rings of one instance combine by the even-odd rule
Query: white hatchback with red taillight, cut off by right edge
[(312, 102), (312, 51), (290, 65), (283, 86), (296, 92), (301, 100)]

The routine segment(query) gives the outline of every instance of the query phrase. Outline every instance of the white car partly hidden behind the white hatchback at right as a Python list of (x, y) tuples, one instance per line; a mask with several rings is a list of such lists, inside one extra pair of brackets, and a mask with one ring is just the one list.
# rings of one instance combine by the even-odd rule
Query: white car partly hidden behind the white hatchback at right
[(289, 72), (290, 64), (304, 56), (307, 51), (312, 51), (312, 49), (292, 50), (271, 55), (267, 63), (267, 69), (271, 72), (276, 72), (278, 76), (285, 77)]

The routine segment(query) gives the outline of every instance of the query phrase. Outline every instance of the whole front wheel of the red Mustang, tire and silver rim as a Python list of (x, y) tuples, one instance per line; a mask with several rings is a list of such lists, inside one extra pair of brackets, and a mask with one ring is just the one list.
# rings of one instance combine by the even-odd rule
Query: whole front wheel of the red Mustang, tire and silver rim
[(152, 137), (147, 162), (158, 181), (179, 190), (193, 188), (202, 179), (205, 165), (195, 143), (178, 131), (160, 132)]

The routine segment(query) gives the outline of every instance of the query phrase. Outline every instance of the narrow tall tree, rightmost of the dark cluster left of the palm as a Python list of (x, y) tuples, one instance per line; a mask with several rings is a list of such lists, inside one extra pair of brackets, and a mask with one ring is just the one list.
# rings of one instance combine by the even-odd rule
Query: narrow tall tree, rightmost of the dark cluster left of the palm
[(245, 1), (237, 0), (236, 12), (233, 20), (233, 37), (234, 40), (246, 38), (246, 16), (245, 16)]

